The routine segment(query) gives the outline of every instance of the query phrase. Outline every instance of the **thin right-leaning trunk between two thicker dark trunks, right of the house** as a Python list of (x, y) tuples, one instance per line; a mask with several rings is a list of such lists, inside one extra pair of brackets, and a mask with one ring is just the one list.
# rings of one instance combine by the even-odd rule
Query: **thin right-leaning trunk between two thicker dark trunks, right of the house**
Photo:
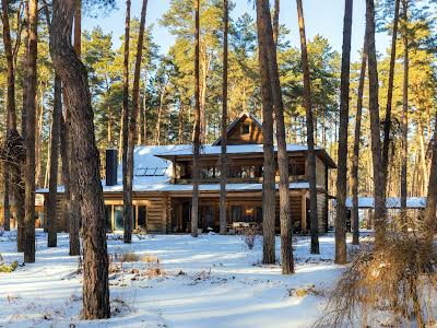
[(367, 32), (364, 36), (362, 69), (359, 72), (358, 82), (358, 96), (356, 104), (355, 116), (355, 138), (354, 151), (352, 157), (352, 172), (351, 172), (351, 189), (352, 189), (352, 244), (359, 245), (359, 215), (358, 215), (358, 164), (359, 164), (359, 139), (362, 132), (362, 113), (363, 113), (363, 96), (364, 96), (364, 81), (366, 79), (367, 68)]

